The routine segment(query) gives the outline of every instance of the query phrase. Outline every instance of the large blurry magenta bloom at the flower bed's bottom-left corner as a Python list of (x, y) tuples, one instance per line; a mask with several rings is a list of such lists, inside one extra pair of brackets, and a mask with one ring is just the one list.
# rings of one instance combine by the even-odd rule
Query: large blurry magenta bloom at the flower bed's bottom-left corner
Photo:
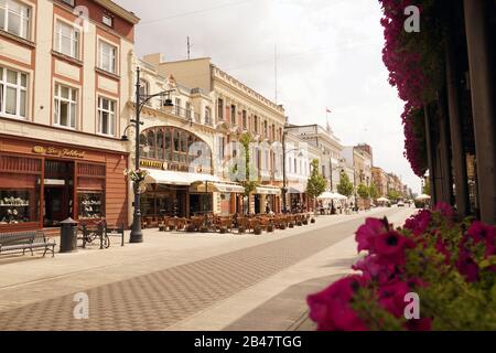
[(319, 331), (366, 331), (367, 327), (351, 306), (353, 295), (366, 281), (360, 276), (348, 276), (320, 293), (309, 296), (310, 318)]

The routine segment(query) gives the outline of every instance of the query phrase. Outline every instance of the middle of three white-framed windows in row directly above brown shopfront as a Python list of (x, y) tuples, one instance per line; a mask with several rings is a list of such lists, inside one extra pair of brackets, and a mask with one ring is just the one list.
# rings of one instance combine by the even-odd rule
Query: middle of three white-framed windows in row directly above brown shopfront
[(54, 124), (75, 129), (77, 90), (56, 84), (54, 97)]

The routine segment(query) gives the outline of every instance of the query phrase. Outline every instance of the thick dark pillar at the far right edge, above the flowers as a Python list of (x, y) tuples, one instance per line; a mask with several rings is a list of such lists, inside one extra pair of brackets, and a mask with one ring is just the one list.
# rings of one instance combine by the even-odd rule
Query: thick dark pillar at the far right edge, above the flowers
[(485, 0), (464, 0), (481, 220), (494, 224), (496, 223), (494, 58), (490, 55), (485, 6), (490, 3)]

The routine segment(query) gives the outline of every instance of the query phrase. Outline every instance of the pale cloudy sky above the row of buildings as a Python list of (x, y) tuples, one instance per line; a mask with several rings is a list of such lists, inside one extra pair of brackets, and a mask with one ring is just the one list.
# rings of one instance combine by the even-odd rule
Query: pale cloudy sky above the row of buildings
[(116, 2), (141, 19), (140, 57), (160, 52), (166, 61), (185, 60), (190, 36), (192, 58), (212, 57), (269, 99), (277, 92), (291, 124), (325, 127), (328, 118), (343, 145), (370, 145), (374, 164), (419, 193), (420, 179), (403, 158), (403, 104), (381, 60), (377, 0)]

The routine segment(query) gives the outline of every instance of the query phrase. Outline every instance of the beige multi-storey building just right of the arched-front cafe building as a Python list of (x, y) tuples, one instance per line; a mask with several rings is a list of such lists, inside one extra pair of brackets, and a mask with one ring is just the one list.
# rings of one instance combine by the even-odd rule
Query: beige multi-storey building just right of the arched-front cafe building
[[(244, 197), (242, 193), (225, 194), (223, 210), (229, 213), (263, 213), (281, 211), (282, 133), (284, 109), (212, 64), (211, 58), (164, 62), (151, 55), (163, 75), (172, 74), (177, 82), (208, 93), (215, 103), (213, 124), (217, 131), (213, 158), (223, 181), (235, 181), (230, 170), (239, 156), (240, 138), (251, 137), (252, 164), (259, 186)], [(250, 179), (254, 175), (250, 175)]]

